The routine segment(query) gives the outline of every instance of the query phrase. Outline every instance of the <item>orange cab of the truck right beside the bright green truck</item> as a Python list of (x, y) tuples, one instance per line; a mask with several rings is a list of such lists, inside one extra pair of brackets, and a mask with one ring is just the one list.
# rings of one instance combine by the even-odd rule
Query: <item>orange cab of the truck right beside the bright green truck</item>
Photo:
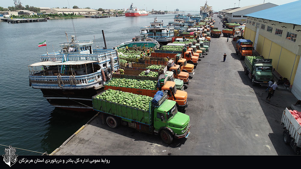
[(166, 81), (166, 83), (161, 86), (161, 90), (167, 93), (169, 100), (176, 102), (178, 109), (185, 109), (186, 107), (188, 107), (187, 92), (177, 90), (177, 88), (175, 87), (175, 82)]

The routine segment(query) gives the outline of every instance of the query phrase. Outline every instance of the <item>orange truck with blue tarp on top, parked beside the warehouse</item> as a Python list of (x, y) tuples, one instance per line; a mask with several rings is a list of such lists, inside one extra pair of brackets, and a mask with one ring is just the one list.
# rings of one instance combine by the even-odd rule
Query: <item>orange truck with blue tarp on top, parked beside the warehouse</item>
[(253, 42), (251, 40), (239, 39), (236, 41), (236, 54), (239, 59), (244, 59), (245, 56), (253, 56)]

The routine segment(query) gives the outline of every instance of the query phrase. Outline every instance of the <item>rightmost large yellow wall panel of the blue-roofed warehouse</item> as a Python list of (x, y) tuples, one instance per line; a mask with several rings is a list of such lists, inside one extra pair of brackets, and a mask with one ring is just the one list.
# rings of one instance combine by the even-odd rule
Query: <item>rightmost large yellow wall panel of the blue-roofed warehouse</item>
[(293, 66), (294, 66), (295, 58), (296, 58), (296, 54), (290, 52), (285, 48), (282, 48), (278, 68), (277, 67), (275, 68), (276, 71), (279, 74), (281, 74), (282, 77), (286, 77), (287, 79), (289, 79), (290, 83), (293, 82), (293, 78), (290, 79), (290, 77), (292, 74), (292, 69), (294, 69)]

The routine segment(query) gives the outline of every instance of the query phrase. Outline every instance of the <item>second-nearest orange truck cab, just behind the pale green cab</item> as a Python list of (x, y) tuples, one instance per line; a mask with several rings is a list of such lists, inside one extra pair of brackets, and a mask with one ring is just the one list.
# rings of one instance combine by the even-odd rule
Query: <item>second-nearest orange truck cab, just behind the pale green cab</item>
[(180, 65), (176, 65), (172, 59), (170, 59), (166, 65), (167, 65), (168, 71), (172, 71), (173, 76), (176, 79), (183, 80), (183, 83), (186, 83), (186, 84), (189, 83), (189, 74), (187, 72), (181, 71)]

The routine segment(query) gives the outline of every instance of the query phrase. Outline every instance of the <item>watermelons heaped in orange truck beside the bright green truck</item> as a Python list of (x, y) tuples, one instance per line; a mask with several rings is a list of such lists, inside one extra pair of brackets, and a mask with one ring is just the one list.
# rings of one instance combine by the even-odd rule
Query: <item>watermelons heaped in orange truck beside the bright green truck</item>
[(113, 78), (108, 83), (108, 86), (133, 87), (143, 89), (157, 89), (157, 82), (152, 80), (136, 80), (125, 78)]

